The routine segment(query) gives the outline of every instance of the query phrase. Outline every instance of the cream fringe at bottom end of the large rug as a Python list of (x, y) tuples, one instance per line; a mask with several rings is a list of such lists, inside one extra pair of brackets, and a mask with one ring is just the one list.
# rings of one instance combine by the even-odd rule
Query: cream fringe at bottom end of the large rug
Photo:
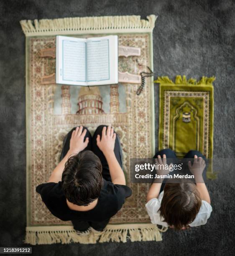
[(161, 232), (167, 228), (158, 229), (153, 224), (110, 224), (102, 232), (91, 232), (87, 236), (79, 236), (72, 226), (35, 226), (26, 228), (25, 243), (52, 244), (52, 243), (104, 243), (104, 242), (131, 242), (135, 241), (162, 241)]

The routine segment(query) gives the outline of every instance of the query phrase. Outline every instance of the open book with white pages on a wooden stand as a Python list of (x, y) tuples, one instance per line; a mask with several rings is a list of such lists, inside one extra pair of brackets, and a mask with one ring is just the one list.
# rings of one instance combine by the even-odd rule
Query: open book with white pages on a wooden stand
[(56, 83), (118, 83), (118, 37), (56, 36)]

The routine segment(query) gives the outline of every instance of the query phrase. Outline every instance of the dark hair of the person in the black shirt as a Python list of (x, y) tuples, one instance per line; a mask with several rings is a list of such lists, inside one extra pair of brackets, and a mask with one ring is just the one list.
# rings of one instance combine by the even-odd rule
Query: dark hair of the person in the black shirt
[(69, 157), (62, 173), (62, 189), (69, 202), (87, 206), (97, 199), (103, 186), (102, 165), (92, 151)]

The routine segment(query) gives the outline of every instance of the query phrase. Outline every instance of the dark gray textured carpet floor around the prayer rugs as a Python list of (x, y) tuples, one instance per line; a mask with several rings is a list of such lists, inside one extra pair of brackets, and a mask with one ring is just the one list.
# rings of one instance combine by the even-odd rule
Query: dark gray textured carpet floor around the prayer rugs
[[(20, 245), (26, 226), (25, 37), (19, 20), (157, 14), (153, 33), (156, 76), (217, 77), (214, 156), (235, 157), (234, 11), (232, 0), (0, 1), (1, 246)], [(156, 86), (156, 134), (157, 98)], [(207, 225), (179, 233), (169, 230), (158, 243), (43, 245), (33, 246), (33, 254), (233, 255), (234, 167), (220, 171), (219, 179), (208, 184), (213, 212)]]

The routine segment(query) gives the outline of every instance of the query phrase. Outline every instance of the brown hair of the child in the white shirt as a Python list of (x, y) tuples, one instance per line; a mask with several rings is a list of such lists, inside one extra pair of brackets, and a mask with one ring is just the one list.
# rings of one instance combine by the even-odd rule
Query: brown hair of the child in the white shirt
[(202, 200), (192, 182), (168, 183), (164, 187), (160, 216), (175, 230), (188, 228), (200, 210)]

